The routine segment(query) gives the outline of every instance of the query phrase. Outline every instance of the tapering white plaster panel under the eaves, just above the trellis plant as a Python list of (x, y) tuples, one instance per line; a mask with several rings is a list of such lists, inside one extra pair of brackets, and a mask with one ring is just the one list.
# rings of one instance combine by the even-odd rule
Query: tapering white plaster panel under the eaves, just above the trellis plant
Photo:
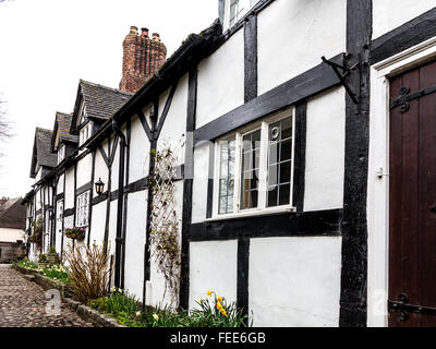
[[(165, 108), (167, 101), (168, 92), (160, 97), (159, 110), (160, 113)], [(178, 163), (181, 165), (184, 163), (184, 137), (186, 133), (186, 109), (187, 109), (187, 75), (184, 75), (178, 84), (174, 96), (172, 98), (171, 108), (168, 111), (167, 119), (164, 123), (160, 132), (157, 148), (162, 149), (170, 147), (171, 149), (180, 149), (177, 154)]]

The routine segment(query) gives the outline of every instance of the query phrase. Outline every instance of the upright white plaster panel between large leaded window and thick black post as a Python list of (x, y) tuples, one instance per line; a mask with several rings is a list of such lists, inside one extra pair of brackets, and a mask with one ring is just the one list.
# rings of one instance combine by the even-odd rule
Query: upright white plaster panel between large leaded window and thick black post
[(304, 210), (343, 206), (344, 133), (343, 88), (308, 100)]

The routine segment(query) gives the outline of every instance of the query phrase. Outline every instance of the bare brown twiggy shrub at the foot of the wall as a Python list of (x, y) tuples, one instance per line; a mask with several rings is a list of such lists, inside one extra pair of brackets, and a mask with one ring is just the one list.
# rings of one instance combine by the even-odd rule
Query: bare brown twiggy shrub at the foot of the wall
[(78, 301), (87, 303), (106, 296), (110, 260), (104, 245), (69, 244), (65, 258), (70, 267), (70, 288)]

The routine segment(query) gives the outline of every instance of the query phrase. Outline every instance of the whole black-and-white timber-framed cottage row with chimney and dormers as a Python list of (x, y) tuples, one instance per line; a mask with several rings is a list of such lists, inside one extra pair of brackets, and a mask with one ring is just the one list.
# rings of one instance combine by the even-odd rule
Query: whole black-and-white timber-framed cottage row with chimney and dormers
[(214, 289), (255, 326), (436, 325), (435, 2), (218, 9), (167, 60), (132, 27), (120, 89), (81, 81), (72, 113), (37, 130), (41, 251), (86, 227), (116, 287), (169, 302), (150, 243), (169, 147), (181, 308)]

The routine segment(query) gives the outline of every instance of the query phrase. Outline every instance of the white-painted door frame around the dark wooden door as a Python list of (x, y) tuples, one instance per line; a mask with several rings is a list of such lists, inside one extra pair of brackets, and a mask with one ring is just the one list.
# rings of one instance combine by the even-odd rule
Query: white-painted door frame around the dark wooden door
[[(389, 285), (389, 77), (436, 58), (436, 38), (390, 57), (371, 69), (370, 164), (367, 183), (367, 326), (388, 326)], [(378, 177), (380, 173), (386, 174)]]

